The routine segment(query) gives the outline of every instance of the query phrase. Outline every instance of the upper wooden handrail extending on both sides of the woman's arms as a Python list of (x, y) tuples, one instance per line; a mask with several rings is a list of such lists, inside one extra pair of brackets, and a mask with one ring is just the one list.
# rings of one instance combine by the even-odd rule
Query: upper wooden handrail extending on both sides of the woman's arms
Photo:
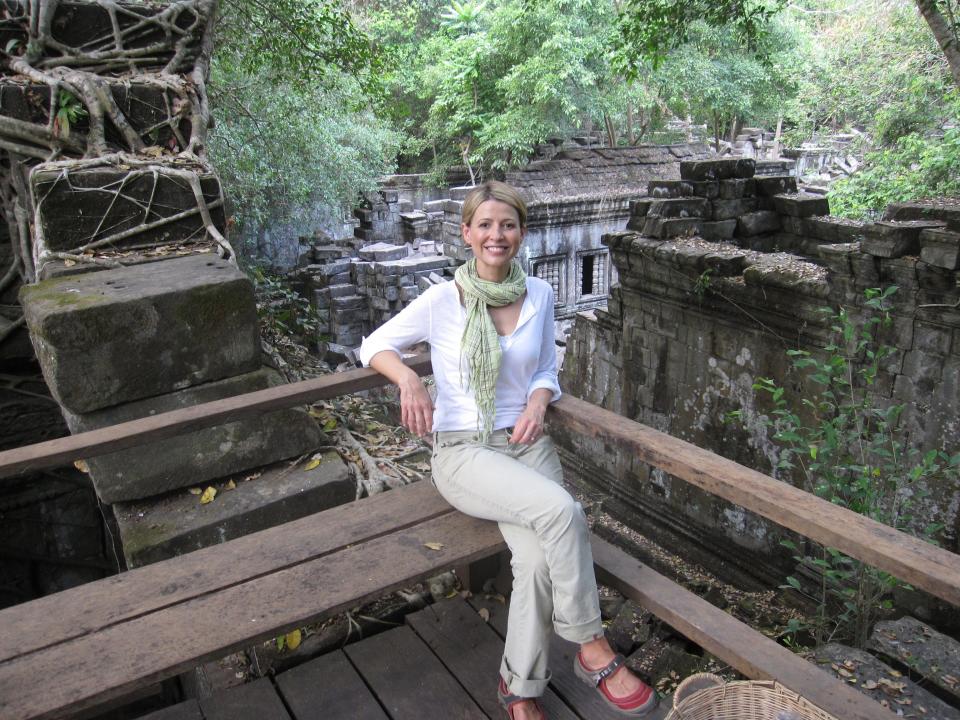
[[(406, 362), (421, 376), (431, 372), (429, 355)], [(373, 370), (350, 370), (7, 450), (0, 452), (0, 478), (384, 384)], [(960, 606), (958, 555), (583, 400), (564, 396), (549, 418), (628, 447), (675, 477)]]

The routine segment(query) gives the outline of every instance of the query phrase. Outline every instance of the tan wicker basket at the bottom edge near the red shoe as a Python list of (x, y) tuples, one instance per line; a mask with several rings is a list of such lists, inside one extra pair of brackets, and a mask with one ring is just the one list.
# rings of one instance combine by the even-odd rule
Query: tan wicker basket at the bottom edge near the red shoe
[(666, 720), (837, 720), (774, 680), (725, 683), (710, 673), (677, 687)]

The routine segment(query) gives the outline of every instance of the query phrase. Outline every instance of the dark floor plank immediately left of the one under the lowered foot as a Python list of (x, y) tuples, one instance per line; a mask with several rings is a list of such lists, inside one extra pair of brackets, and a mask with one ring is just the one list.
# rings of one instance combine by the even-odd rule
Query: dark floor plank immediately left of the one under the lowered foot
[(344, 652), (392, 720), (487, 720), (443, 663), (408, 627), (347, 645)]

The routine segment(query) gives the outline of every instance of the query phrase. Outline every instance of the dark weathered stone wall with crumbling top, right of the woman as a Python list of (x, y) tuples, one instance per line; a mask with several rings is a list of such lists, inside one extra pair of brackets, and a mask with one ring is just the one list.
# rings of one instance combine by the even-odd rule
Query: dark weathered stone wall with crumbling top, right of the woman
[[(738, 162), (685, 163), (683, 181), (651, 184), (651, 195), (666, 197), (634, 203), (639, 231), (605, 236), (620, 282), (606, 311), (577, 317), (565, 390), (776, 475), (759, 420), (769, 407), (753, 382), (774, 378), (794, 403), (809, 397), (786, 351), (824, 346), (832, 333), (821, 308), (862, 317), (865, 289), (896, 285), (884, 338), (896, 353), (876, 402), (905, 405), (901, 424), (915, 445), (956, 452), (960, 208), (891, 206), (887, 221), (851, 223), (814, 214), (826, 211), (825, 199), (790, 192), (790, 178), (754, 179)], [(724, 217), (731, 202), (740, 214)], [(715, 241), (702, 239), (710, 233)], [(746, 425), (725, 422), (732, 410)], [(598, 441), (560, 440), (568, 463), (608, 495), (608, 509), (644, 533), (711, 564), (719, 555), (731, 574), (782, 582), (790, 559), (777, 526)], [(929, 490), (923, 519), (942, 522), (944, 544), (956, 551), (960, 488)]]

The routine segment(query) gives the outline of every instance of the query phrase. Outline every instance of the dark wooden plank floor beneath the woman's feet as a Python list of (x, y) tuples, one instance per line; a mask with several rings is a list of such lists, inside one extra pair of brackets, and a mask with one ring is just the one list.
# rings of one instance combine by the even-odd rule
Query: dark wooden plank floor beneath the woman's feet
[[(497, 671), (507, 609), (495, 601), (445, 600), (406, 624), (288, 670), (189, 700), (143, 720), (485, 720), (505, 718)], [(486, 623), (479, 607), (490, 612)], [(543, 698), (551, 720), (613, 720), (573, 674), (576, 646), (554, 637), (553, 680)], [(651, 716), (660, 720), (667, 703)]]

